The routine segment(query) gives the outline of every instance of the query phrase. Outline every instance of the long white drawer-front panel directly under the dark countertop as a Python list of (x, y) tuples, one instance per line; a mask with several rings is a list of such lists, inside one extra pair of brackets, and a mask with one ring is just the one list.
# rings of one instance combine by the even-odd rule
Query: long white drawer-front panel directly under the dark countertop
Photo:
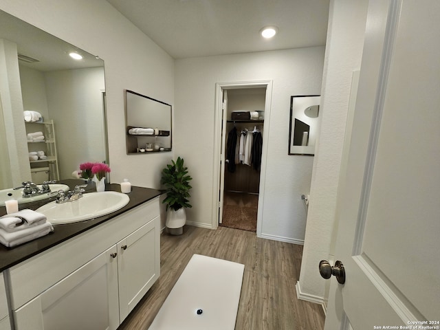
[(6, 270), (12, 309), (18, 309), (158, 215), (156, 197)]

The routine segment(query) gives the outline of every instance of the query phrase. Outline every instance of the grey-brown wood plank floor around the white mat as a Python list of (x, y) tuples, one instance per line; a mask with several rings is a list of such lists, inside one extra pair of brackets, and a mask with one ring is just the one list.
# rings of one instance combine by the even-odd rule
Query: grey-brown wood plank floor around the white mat
[(245, 265), (236, 330), (324, 328), (322, 307), (296, 298), (303, 246), (259, 239), (245, 230), (186, 225), (180, 236), (161, 236), (159, 280), (118, 330), (148, 329), (192, 254)]

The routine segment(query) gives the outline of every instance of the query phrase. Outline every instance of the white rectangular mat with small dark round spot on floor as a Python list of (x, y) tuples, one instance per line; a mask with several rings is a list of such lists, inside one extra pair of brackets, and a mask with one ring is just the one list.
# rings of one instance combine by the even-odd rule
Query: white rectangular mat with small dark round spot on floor
[(194, 254), (149, 330), (234, 330), (244, 268)]

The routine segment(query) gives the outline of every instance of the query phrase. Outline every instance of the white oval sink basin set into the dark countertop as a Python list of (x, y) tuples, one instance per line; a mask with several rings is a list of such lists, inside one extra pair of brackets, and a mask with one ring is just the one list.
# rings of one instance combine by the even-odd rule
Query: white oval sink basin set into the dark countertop
[(47, 221), (53, 225), (59, 225), (102, 217), (123, 208), (129, 201), (130, 198), (122, 192), (89, 192), (76, 201), (51, 201), (38, 208), (36, 212), (45, 214)]

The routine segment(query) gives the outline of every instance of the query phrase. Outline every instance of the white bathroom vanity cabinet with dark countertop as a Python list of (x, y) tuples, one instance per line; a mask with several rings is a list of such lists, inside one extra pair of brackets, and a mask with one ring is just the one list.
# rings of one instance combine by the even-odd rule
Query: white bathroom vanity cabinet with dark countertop
[[(133, 187), (129, 203), (112, 214), (54, 225), (17, 248), (2, 245), (13, 329), (117, 329), (159, 277), (160, 194)], [(1, 293), (0, 286), (0, 300)]]

